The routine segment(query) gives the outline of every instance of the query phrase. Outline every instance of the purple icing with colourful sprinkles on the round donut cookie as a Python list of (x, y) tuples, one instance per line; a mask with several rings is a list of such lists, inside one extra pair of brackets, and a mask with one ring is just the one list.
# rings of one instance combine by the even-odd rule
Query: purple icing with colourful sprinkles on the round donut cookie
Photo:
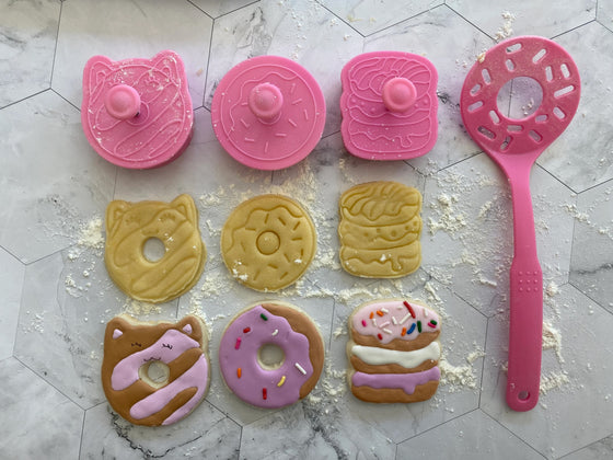
[[(247, 327), (248, 332), (244, 332)], [(238, 338), (241, 342), (236, 349)], [(276, 345), (285, 353), (278, 369), (263, 369), (257, 361), (257, 353), (266, 344)], [(219, 345), (219, 366), (230, 390), (258, 407), (282, 407), (297, 402), (300, 388), (313, 375), (309, 340), (294, 332), (285, 318), (271, 314), (262, 306), (247, 310), (228, 326)], [(239, 368), (241, 377), (236, 372)]]

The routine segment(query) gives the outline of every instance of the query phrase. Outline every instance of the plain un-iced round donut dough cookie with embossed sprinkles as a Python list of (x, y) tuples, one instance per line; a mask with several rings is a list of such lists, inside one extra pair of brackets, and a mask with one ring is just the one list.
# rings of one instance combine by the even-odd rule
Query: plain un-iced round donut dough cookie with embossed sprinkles
[(221, 231), (230, 273), (252, 289), (276, 291), (293, 284), (316, 249), (315, 226), (294, 200), (261, 195), (239, 205)]

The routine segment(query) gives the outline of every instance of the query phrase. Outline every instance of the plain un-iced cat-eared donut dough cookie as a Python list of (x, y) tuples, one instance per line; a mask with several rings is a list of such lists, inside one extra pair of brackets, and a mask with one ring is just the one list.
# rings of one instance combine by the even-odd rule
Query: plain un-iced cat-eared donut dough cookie
[[(164, 244), (158, 261), (148, 260), (148, 240)], [(189, 195), (172, 203), (111, 202), (106, 208), (104, 262), (111, 278), (128, 296), (160, 303), (189, 290), (200, 277), (206, 250), (198, 210)]]

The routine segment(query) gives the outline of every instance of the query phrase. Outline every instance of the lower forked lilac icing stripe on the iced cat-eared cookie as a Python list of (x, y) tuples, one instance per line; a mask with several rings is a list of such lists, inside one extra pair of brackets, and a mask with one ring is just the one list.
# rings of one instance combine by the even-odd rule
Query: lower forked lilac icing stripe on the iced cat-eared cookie
[(189, 414), (189, 412), (192, 412), (192, 410), (198, 404), (198, 402), (205, 394), (205, 390), (207, 388), (207, 361), (205, 359), (205, 355), (200, 355), (198, 360), (194, 363), (194, 366), (187, 369), (176, 380), (132, 405), (130, 407), (130, 415), (137, 421), (146, 418), (164, 409), (164, 406), (183, 390), (188, 388), (196, 388), (197, 391), (189, 399), (189, 401), (187, 401), (184, 405), (173, 412), (166, 419), (164, 419), (164, 422), (162, 422), (162, 425), (171, 425), (180, 421), (181, 418)]

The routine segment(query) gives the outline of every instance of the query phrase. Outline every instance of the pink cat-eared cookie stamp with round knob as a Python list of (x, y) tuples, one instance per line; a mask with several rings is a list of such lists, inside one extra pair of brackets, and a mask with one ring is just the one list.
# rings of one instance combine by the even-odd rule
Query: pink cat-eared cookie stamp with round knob
[(185, 68), (174, 51), (113, 61), (94, 56), (83, 70), (81, 124), (93, 149), (123, 168), (157, 168), (188, 146), (194, 126)]

